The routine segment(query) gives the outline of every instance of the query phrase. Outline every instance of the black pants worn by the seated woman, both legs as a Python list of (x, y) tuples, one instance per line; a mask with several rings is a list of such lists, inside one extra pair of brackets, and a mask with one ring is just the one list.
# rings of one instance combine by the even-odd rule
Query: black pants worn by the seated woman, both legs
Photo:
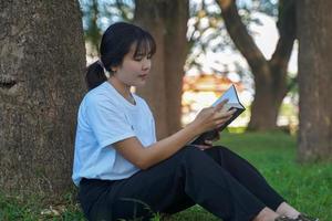
[(224, 221), (246, 221), (284, 201), (248, 161), (220, 146), (185, 147), (123, 180), (83, 179), (79, 199), (91, 221), (148, 220), (153, 212), (175, 213), (196, 203)]

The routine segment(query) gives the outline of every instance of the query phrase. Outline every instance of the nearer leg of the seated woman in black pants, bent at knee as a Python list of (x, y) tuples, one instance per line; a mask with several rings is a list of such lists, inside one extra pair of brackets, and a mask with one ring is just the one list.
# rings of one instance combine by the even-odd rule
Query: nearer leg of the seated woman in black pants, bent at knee
[[(82, 191), (81, 201), (89, 202), (85, 196)], [(185, 147), (147, 170), (113, 182), (85, 213), (91, 220), (148, 219), (145, 204), (153, 212), (177, 212), (195, 203), (232, 221), (252, 220), (266, 207), (209, 156)]]

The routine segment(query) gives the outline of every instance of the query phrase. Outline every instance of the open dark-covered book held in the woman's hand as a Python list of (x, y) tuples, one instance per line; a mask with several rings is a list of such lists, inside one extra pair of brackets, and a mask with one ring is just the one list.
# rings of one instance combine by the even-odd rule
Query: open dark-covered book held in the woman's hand
[(217, 137), (218, 133), (220, 133), (222, 129), (225, 129), (232, 120), (235, 120), (242, 112), (245, 112), (243, 105), (240, 103), (236, 87), (231, 85), (214, 104), (212, 106), (216, 106), (221, 101), (228, 99), (228, 102), (224, 105), (222, 110), (229, 110), (232, 108), (236, 108), (237, 110), (234, 113), (232, 117), (227, 120), (221, 127), (206, 131), (195, 138), (190, 144), (200, 145), (204, 144), (205, 140), (212, 140), (215, 137)]

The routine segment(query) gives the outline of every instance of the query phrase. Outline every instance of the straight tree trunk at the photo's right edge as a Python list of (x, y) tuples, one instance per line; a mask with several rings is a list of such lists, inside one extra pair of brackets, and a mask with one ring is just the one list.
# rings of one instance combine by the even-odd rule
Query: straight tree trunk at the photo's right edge
[(300, 161), (332, 158), (332, 1), (297, 1)]

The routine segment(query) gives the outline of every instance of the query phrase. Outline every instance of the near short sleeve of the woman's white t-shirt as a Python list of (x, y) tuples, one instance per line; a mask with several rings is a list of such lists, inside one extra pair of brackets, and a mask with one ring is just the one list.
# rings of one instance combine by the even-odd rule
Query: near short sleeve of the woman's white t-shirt
[(86, 118), (101, 147), (134, 137), (125, 113), (107, 97), (90, 97)]

